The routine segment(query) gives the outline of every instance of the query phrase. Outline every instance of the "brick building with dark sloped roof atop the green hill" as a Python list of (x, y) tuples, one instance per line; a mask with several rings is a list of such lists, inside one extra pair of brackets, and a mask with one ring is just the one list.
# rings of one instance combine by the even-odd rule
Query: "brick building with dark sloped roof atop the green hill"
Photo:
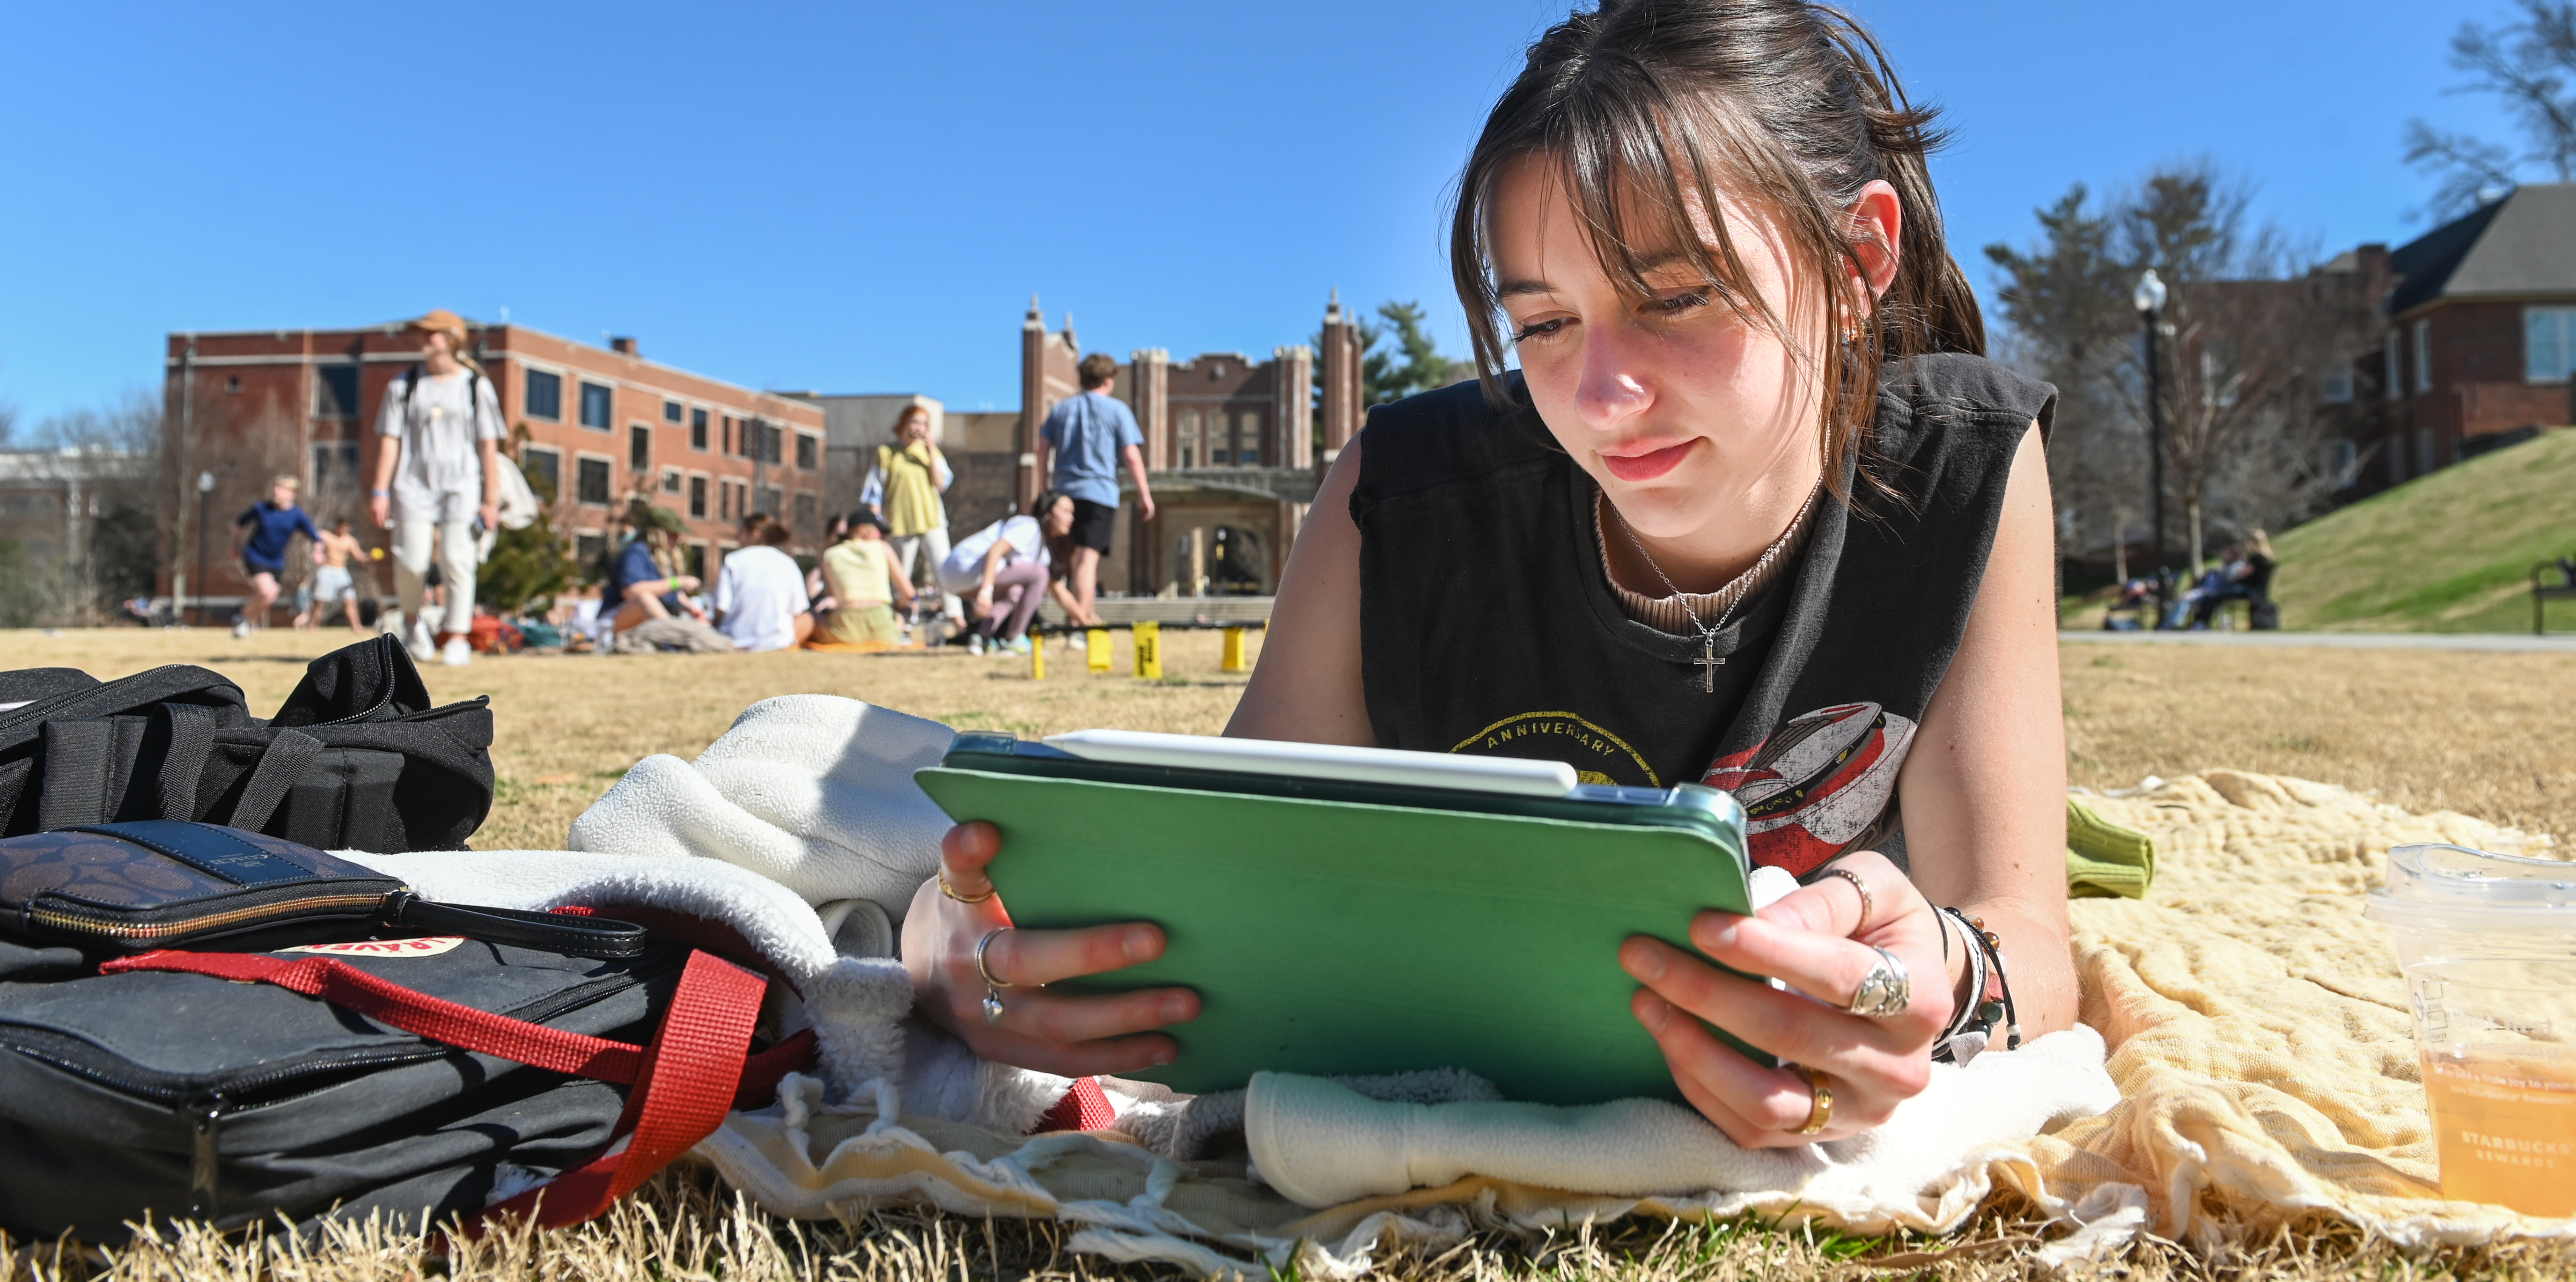
[(2344, 451), (2367, 456), (2352, 494), (2576, 422), (2576, 183), (2519, 188), (2334, 265), (2383, 299), (2375, 340), (2324, 389)]

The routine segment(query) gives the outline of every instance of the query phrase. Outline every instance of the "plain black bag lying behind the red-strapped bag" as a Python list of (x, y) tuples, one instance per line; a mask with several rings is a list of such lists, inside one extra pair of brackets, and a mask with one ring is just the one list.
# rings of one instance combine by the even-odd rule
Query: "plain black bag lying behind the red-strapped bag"
[(0, 837), (198, 819), (317, 850), (464, 850), (492, 811), (492, 708), (430, 705), (394, 636), (314, 659), (273, 718), (193, 664), (0, 672)]

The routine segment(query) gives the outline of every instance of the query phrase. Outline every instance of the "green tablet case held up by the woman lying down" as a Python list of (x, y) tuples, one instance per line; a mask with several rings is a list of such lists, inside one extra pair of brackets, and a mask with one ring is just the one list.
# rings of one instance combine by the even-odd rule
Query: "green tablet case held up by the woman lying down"
[(1687, 950), (1698, 909), (1749, 909), (1741, 829), (1710, 834), (1705, 816), (1602, 824), (1463, 813), (1435, 808), (1440, 798), (1388, 806), (953, 767), (914, 777), (953, 819), (1002, 829), (992, 880), (1015, 924), (1164, 927), (1159, 960), (1056, 989), (1195, 989), (1200, 1017), (1167, 1030), (1180, 1058), (1128, 1073), (1193, 1094), (1262, 1068), (1455, 1066), (1510, 1099), (1680, 1099), (1628, 1014), (1636, 981), (1618, 945), (1654, 934)]

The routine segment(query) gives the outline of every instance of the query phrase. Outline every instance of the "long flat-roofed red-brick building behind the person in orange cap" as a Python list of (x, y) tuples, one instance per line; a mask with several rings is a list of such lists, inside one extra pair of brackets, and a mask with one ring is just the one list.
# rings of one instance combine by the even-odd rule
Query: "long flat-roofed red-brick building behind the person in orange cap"
[[(384, 389), (420, 363), (420, 342), (399, 322), (170, 335), (167, 412), (183, 427), (167, 466), (178, 476), (214, 474), (211, 582), (191, 584), (191, 600), (240, 600), (245, 584), (222, 556), (224, 530), (276, 474), (304, 479), (304, 505), (319, 523), (348, 515), (363, 541), (381, 543), (363, 515), (381, 440), (376, 409)], [(631, 337), (592, 348), (487, 324), (469, 348), (500, 394), (513, 456), (538, 492), (554, 492), (554, 528), (585, 566), (613, 546), (629, 497), (688, 517), (685, 556), (701, 577), (714, 577), (752, 510), (786, 517), (804, 543), (819, 541), (822, 407), (644, 360)], [(389, 592), (392, 574), (374, 587)]]

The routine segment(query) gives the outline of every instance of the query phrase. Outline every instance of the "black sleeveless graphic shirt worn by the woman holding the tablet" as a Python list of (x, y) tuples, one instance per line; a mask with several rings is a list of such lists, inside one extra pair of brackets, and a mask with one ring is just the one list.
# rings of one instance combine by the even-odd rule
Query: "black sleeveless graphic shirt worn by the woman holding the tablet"
[(1708, 667), (1698, 636), (1620, 610), (1592, 479), (1533, 412), (1497, 412), (1476, 384), (1381, 404), (1350, 494), (1378, 744), (1726, 788), (1754, 862), (1806, 875), (1888, 811), (1968, 628), (2012, 456), (2053, 407), (2056, 389), (1984, 358), (1891, 363), (1870, 466), (1899, 499), (1844, 476), (1860, 510), (1819, 499), (1798, 566)]

